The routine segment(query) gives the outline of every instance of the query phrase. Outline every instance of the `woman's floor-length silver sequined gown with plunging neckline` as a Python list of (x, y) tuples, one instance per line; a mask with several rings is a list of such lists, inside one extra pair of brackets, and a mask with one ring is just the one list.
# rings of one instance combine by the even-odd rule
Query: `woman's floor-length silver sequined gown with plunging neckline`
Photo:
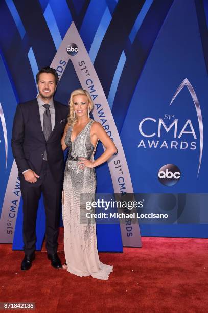
[[(76, 158), (93, 158), (94, 146), (90, 141), (90, 120), (85, 128), (71, 141), (73, 127), (68, 128), (65, 144), (69, 149), (64, 172), (62, 214), (64, 225), (64, 251), (67, 271), (78, 276), (108, 279), (112, 272), (110, 265), (99, 260), (95, 223), (80, 223), (80, 193), (87, 194), (87, 200), (94, 199), (96, 175), (94, 168), (80, 170)], [(75, 158), (75, 159), (74, 159)], [(86, 197), (86, 196), (85, 196)]]

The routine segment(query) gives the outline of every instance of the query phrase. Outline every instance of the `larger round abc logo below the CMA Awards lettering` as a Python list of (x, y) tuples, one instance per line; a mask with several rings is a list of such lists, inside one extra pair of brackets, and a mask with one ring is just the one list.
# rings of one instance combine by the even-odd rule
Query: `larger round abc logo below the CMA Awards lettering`
[(158, 179), (163, 185), (173, 186), (180, 180), (180, 170), (174, 164), (166, 164), (159, 169)]

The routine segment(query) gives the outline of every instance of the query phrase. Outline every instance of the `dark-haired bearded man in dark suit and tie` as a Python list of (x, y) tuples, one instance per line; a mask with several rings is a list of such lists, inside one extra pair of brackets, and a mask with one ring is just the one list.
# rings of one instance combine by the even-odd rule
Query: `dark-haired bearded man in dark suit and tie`
[(36, 75), (38, 97), (17, 106), (12, 130), (12, 151), (23, 199), (25, 257), (21, 270), (29, 270), (35, 259), (36, 217), (43, 194), (48, 258), (60, 269), (57, 255), (60, 200), (64, 160), (61, 137), (67, 123), (68, 106), (53, 100), (58, 84), (56, 70), (47, 66)]

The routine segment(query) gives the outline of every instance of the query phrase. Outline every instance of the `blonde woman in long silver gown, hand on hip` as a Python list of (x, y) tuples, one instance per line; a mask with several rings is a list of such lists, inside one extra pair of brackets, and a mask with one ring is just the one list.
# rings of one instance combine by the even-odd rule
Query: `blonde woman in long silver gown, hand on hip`
[[(101, 124), (90, 119), (93, 101), (87, 91), (73, 91), (69, 105), (70, 115), (61, 140), (62, 149), (69, 149), (62, 194), (66, 258), (64, 269), (78, 276), (108, 279), (113, 266), (99, 260), (95, 223), (80, 222), (80, 194), (85, 194), (85, 200), (94, 199), (94, 168), (106, 162), (117, 152), (117, 148)], [(104, 145), (105, 151), (94, 161), (98, 140)]]

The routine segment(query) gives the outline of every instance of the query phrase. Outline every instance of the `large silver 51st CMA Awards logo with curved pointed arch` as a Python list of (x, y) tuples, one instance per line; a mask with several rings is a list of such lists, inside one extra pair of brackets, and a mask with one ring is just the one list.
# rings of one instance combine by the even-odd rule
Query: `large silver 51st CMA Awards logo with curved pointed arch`
[[(191, 85), (190, 81), (185, 78), (181, 84), (178, 86), (175, 94), (172, 97), (170, 105), (174, 102), (175, 98), (181, 92), (181, 90), (187, 87), (188, 91), (192, 97), (194, 107), (196, 109), (196, 116), (198, 120), (198, 131), (199, 131), (199, 138), (196, 137), (196, 132), (193, 127), (191, 119), (188, 119), (182, 127), (178, 127), (178, 119), (174, 119), (174, 114), (165, 114), (164, 119), (159, 118), (158, 121), (152, 117), (144, 118), (139, 125), (139, 131), (143, 136), (143, 139), (140, 140), (138, 143), (138, 148), (146, 149), (169, 149), (171, 150), (196, 150), (199, 146), (199, 164), (198, 164), (198, 173), (201, 167), (202, 161), (202, 153), (203, 153), (203, 121), (202, 121), (202, 114), (201, 108), (199, 105), (199, 100), (197, 95), (194, 91), (193, 86)], [(169, 106), (170, 106), (169, 105)], [(182, 104), (181, 104), (182, 106)], [(181, 108), (180, 108), (181, 109)], [(184, 108), (184, 110), (189, 110), (189, 108)], [(164, 120), (167, 120), (166, 122)], [(150, 130), (150, 127), (154, 125), (154, 130)], [(171, 133), (172, 138), (163, 138), (164, 133)], [(183, 136), (183, 135), (190, 135)], [(155, 138), (153, 138), (155, 136)]]

